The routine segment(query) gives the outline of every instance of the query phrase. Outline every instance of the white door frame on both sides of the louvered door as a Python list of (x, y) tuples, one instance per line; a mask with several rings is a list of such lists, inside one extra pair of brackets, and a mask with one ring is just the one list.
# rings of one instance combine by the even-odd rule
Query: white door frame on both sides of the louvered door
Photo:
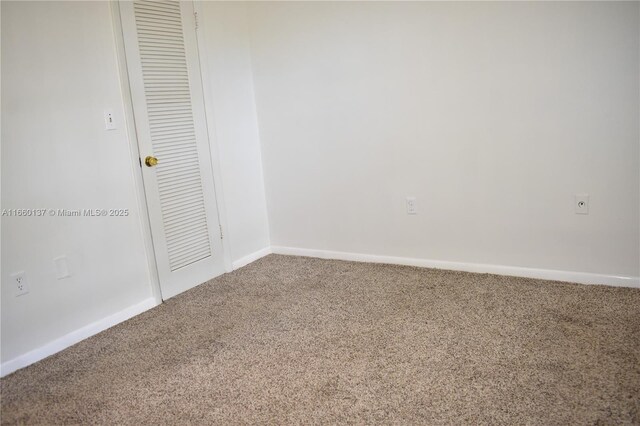
[[(200, 5), (197, 2), (194, 3), (194, 10), (200, 13)], [(149, 219), (149, 210), (147, 206), (147, 199), (145, 196), (144, 182), (142, 178), (142, 166), (140, 165), (140, 147), (138, 145), (138, 136), (136, 132), (135, 118), (133, 115), (133, 99), (131, 97), (131, 89), (129, 84), (129, 71), (127, 69), (127, 59), (124, 46), (124, 34), (122, 30), (122, 21), (120, 18), (120, 4), (118, 0), (109, 1), (111, 9), (111, 21), (113, 23), (114, 41), (116, 45), (116, 55), (118, 62), (118, 72), (120, 77), (120, 92), (122, 95), (124, 120), (123, 126), (126, 129), (128, 136), (128, 143), (131, 152), (131, 166), (133, 168), (134, 186), (137, 199), (138, 210), (140, 212), (140, 230), (144, 240), (145, 255), (147, 258), (147, 268), (149, 270), (149, 276), (151, 278), (151, 291), (156, 303), (162, 303), (162, 292), (160, 288), (160, 278), (158, 275), (158, 264), (156, 261), (155, 249), (153, 247), (153, 239), (151, 234), (151, 221)], [(220, 228), (224, 238), (221, 240), (222, 254), (224, 259), (225, 272), (231, 272), (233, 270), (231, 263), (231, 251), (229, 248), (229, 232), (227, 226), (226, 204), (224, 202), (224, 195), (222, 192), (222, 177), (220, 172), (220, 160), (218, 144), (214, 135), (213, 126), (214, 120), (211, 114), (212, 96), (210, 92), (210, 84), (208, 79), (205, 78), (206, 67), (203, 60), (203, 42), (200, 32), (196, 30), (197, 39), (197, 51), (200, 56), (200, 74), (202, 79), (202, 87), (204, 93), (204, 110), (206, 116), (207, 136), (209, 141), (209, 152), (211, 153), (211, 168), (213, 172), (213, 187), (215, 190), (215, 199), (218, 211), (218, 221), (220, 222)]]

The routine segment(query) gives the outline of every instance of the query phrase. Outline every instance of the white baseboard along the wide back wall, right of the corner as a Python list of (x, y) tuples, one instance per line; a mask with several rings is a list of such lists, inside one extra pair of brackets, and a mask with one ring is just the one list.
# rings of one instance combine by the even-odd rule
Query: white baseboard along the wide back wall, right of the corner
[(272, 246), (275, 254), (319, 257), (322, 259), (350, 260), (354, 262), (389, 263), (393, 265), (419, 266), (423, 268), (453, 271), (510, 275), (543, 280), (567, 281), (580, 284), (603, 284), (616, 287), (640, 288), (640, 277), (591, 274), (587, 272), (557, 271), (552, 269), (523, 268), (519, 266), (487, 265), (483, 263), (450, 262), (444, 260), (415, 259), (409, 257), (377, 256), (330, 250), (313, 250), (296, 247)]

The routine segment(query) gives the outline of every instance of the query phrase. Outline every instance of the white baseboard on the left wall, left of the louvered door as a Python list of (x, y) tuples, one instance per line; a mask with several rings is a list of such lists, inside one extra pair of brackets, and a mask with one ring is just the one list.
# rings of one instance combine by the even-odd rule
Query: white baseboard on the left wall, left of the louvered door
[(60, 352), (61, 350), (66, 349), (69, 346), (75, 345), (81, 340), (98, 334), (109, 327), (113, 327), (114, 325), (126, 321), (129, 318), (141, 314), (142, 312), (147, 311), (157, 305), (158, 302), (156, 301), (156, 299), (150, 297), (136, 305), (123, 309), (120, 312), (116, 312), (113, 315), (109, 315), (106, 318), (72, 331), (71, 333), (62, 336), (59, 339), (54, 340), (53, 342), (47, 343), (46, 345), (29, 351), (26, 354), (20, 355), (17, 358), (14, 358), (7, 362), (3, 362), (2, 365), (0, 365), (0, 377), (4, 377), (7, 374), (13, 373), (16, 370), (24, 368), (28, 365), (33, 364), (34, 362), (38, 362), (41, 359)]

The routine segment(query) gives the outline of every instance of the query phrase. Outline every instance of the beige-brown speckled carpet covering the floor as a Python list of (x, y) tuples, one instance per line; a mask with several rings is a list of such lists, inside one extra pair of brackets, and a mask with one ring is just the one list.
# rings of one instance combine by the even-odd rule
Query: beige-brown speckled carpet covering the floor
[(3, 424), (640, 424), (640, 290), (271, 255), (1, 384)]

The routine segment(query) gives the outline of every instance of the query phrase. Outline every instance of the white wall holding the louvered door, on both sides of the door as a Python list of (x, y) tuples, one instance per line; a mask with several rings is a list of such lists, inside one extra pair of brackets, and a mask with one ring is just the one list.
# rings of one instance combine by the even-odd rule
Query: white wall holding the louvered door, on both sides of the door
[[(199, 39), (242, 265), (269, 248), (246, 7), (202, 4)], [(153, 305), (107, 2), (2, 2), (2, 208), (127, 208), (126, 218), (2, 218), (3, 374)], [(104, 130), (112, 108), (118, 129)], [(142, 201), (144, 202), (144, 201)], [(67, 255), (73, 276), (57, 280)], [(253, 256), (253, 257), (252, 257)], [(30, 293), (15, 297), (24, 270)]]

